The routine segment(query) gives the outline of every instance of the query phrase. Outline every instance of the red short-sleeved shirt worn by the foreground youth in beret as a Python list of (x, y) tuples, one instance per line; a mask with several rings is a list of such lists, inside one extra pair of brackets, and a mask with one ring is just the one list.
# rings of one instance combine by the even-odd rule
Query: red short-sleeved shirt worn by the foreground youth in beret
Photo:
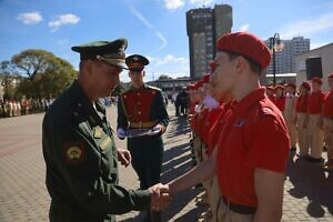
[(278, 108), (260, 88), (238, 102), (225, 117), (219, 140), (216, 175), (231, 202), (256, 206), (254, 170), (284, 173), (290, 139)]

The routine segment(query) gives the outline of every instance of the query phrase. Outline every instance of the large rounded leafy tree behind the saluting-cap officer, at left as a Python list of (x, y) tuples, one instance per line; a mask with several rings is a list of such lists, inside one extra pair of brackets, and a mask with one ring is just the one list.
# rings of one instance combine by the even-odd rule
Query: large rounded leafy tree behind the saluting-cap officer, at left
[(18, 85), (17, 93), (28, 98), (57, 97), (77, 75), (68, 61), (44, 50), (26, 50), (13, 56), (11, 62), (27, 77)]

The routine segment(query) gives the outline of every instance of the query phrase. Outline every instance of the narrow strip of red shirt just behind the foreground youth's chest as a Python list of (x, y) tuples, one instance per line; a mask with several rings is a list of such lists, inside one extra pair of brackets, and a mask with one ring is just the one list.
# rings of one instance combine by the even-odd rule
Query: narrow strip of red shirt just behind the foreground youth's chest
[(220, 131), (225, 123), (225, 113), (230, 109), (231, 104), (232, 104), (232, 102), (228, 102), (219, 108), (220, 113), (219, 113), (218, 120), (212, 125), (212, 128), (210, 129), (210, 132), (209, 132), (208, 149), (206, 149), (208, 157), (211, 157), (211, 154), (214, 151), (214, 148), (219, 141)]

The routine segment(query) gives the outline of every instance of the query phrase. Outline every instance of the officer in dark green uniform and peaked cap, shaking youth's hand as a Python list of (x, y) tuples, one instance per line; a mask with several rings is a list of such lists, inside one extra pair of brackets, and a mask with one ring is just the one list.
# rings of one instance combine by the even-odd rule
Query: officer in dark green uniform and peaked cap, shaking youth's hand
[(113, 214), (162, 204), (157, 186), (125, 190), (118, 184), (118, 160), (128, 165), (131, 158), (115, 148), (99, 98), (119, 83), (125, 48), (125, 39), (72, 48), (81, 56), (78, 80), (50, 107), (42, 127), (50, 221), (115, 221)]

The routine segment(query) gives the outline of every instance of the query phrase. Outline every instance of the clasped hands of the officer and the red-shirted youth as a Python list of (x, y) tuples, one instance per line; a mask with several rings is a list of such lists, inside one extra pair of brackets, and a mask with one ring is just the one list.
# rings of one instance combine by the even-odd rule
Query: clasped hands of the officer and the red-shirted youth
[(153, 211), (161, 211), (167, 208), (172, 200), (168, 184), (158, 183), (150, 186), (148, 191), (151, 193), (150, 206)]

